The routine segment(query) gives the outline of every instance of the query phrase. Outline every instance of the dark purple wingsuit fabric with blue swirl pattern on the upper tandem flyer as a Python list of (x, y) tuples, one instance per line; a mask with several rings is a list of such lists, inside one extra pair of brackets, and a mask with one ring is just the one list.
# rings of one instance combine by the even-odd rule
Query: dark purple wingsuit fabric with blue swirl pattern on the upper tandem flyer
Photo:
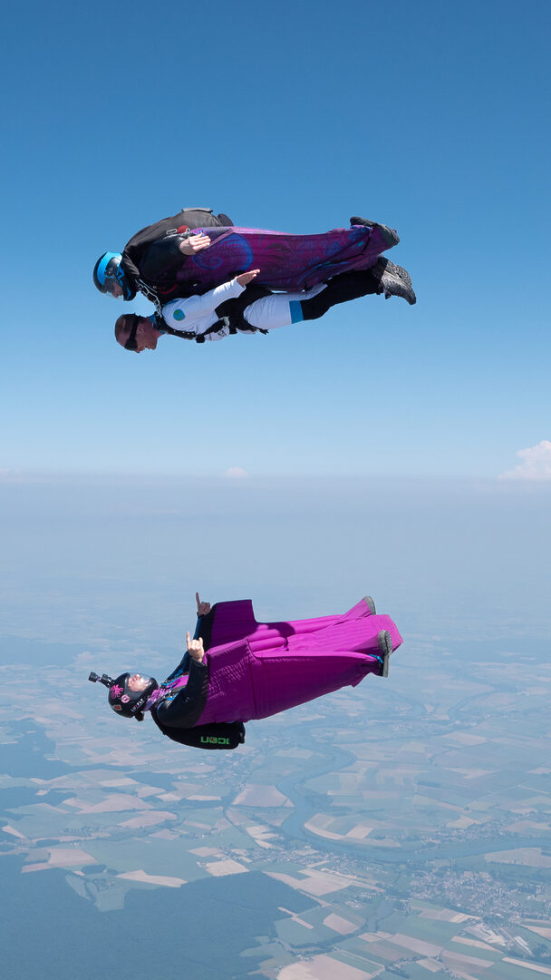
[[(255, 281), (271, 289), (309, 289), (339, 272), (369, 269), (382, 252), (392, 247), (380, 226), (354, 224), (319, 235), (292, 235), (259, 228), (197, 228), (211, 245), (188, 256), (176, 272), (182, 295), (201, 284), (207, 291), (238, 272), (259, 269)], [(397, 239), (396, 239), (397, 240)]]

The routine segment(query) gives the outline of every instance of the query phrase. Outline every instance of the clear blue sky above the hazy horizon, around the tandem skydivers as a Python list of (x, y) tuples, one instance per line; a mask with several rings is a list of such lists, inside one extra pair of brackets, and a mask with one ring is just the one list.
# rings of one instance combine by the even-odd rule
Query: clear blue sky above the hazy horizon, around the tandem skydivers
[[(5, 17), (1, 469), (494, 479), (551, 438), (548, 4)], [(127, 354), (93, 264), (185, 204), (389, 223), (418, 304)]]

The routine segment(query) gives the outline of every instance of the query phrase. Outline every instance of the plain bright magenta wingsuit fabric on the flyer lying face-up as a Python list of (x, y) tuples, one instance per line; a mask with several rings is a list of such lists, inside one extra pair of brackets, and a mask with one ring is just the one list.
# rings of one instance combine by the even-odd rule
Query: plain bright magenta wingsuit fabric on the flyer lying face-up
[(198, 725), (265, 718), (355, 687), (379, 674), (382, 629), (392, 650), (402, 643), (390, 616), (372, 614), (363, 599), (344, 615), (270, 623), (256, 622), (250, 600), (217, 603), (204, 619), (209, 681)]

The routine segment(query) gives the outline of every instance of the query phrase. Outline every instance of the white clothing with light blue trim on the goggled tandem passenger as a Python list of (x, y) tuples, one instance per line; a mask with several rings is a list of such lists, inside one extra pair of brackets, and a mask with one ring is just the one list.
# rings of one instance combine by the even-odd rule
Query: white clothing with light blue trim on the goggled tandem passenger
[[(215, 308), (225, 300), (241, 296), (245, 286), (240, 286), (237, 278), (210, 289), (203, 296), (190, 296), (185, 300), (171, 300), (162, 307), (162, 319), (174, 330), (186, 330), (197, 335), (205, 333), (209, 326), (219, 319)], [(325, 289), (321, 284), (297, 293), (270, 293), (255, 300), (244, 311), (244, 318), (251, 326), (262, 330), (274, 330), (279, 326), (289, 326), (302, 319), (300, 302), (309, 300)], [(213, 333), (207, 333), (206, 340), (222, 340), (229, 334), (229, 327), (222, 326)]]

